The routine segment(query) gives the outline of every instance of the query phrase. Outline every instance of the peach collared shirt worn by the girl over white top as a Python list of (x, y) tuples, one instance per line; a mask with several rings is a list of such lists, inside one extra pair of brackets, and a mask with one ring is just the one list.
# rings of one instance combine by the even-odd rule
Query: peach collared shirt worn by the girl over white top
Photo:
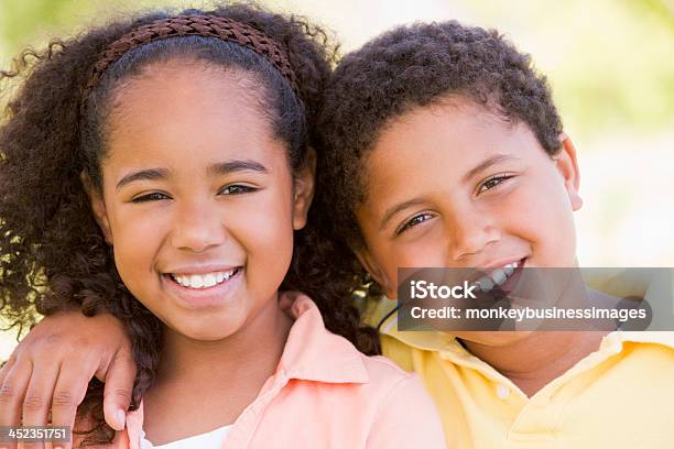
[[(284, 293), (280, 305), (295, 318), (281, 361), (224, 448), (445, 447), (435, 405), (415, 374), (326, 330), (307, 296)], [(141, 405), (112, 447), (140, 449), (142, 427)]]

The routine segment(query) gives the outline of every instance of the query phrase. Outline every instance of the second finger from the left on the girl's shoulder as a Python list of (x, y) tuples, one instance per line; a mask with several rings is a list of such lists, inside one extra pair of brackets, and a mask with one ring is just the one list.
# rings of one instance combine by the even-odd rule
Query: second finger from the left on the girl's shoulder
[[(58, 365), (33, 362), (33, 374), (23, 398), (23, 426), (46, 426), (54, 386), (58, 379)], [(26, 449), (44, 449), (44, 443), (26, 443)]]

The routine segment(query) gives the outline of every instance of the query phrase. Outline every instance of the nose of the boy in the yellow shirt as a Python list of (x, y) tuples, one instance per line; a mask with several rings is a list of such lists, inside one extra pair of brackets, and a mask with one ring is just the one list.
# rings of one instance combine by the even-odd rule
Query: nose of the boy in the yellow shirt
[(468, 211), (452, 223), (449, 255), (452, 262), (470, 262), (490, 243), (499, 241), (501, 231), (490, 217), (479, 211)]

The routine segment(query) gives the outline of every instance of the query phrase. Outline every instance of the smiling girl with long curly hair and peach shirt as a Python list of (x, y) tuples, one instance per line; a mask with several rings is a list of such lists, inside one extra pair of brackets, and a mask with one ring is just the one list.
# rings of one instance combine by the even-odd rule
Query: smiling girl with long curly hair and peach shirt
[[(324, 37), (231, 6), (111, 23), (30, 67), (0, 131), (3, 313), (108, 310), (138, 365), (126, 431), (104, 425), (93, 386), (77, 446), (444, 445), (418, 380), (324, 328), (317, 304), (374, 351), (335, 286), (303, 273), (316, 237), (293, 244), (314, 190)], [(3, 371), (3, 424), (20, 418), (14, 391), (42, 387), (25, 369)], [(23, 425), (46, 410), (29, 393)]]

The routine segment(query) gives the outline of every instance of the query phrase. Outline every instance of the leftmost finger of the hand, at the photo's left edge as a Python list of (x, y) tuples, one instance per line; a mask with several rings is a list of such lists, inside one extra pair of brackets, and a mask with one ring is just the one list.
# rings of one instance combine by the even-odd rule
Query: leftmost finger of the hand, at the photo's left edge
[[(25, 388), (28, 388), (33, 364), (30, 361), (18, 360), (9, 370), (0, 386), (0, 426), (19, 427), (21, 424), (21, 407)], [(15, 443), (3, 443), (14, 449)]]

